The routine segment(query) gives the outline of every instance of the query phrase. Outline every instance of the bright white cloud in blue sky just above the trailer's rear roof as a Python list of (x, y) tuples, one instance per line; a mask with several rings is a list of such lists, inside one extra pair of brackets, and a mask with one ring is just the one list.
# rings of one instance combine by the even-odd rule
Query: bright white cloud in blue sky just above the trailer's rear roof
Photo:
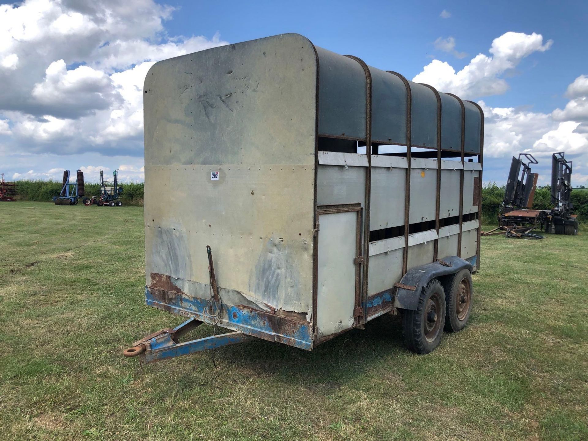
[(534, 32), (530, 35), (506, 32), (492, 42), (489, 49), (492, 56), (478, 54), (458, 72), (447, 62), (435, 59), (413, 81), (427, 83), (442, 92), (456, 93), (465, 99), (505, 93), (508, 84), (500, 75), (515, 68), (521, 59), (533, 52), (547, 51), (552, 43), (549, 40), (543, 44), (543, 36)]

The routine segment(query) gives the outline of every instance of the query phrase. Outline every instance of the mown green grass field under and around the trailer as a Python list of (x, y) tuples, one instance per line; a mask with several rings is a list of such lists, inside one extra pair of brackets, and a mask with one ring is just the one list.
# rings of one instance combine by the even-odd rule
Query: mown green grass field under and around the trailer
[(385, 316), (141, 368), (182, 322), (143, 303), (142, 213), (0, 203), (0, 439), (588, 439), (586, 233), (482, 238), (470, 326), (426, 356)]

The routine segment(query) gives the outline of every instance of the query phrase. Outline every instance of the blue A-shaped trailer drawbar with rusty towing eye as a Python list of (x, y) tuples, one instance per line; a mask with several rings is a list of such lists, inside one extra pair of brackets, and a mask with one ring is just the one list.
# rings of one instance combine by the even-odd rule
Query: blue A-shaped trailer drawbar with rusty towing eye
[(252, 339), (242, 332), (228, 332), (188, 342), (179, 342), (183, 335), (200, 325), (202, 325), (201, 321), (192, 318), (175, 328), (153, 332), (141, 340), (137, 340), (131, 348), (125, 349), (123, 355), (125, 357), (140, 355), (143, 362), (152, 363), (202, 350), (220, 348), (220, 346), (235, 345)]

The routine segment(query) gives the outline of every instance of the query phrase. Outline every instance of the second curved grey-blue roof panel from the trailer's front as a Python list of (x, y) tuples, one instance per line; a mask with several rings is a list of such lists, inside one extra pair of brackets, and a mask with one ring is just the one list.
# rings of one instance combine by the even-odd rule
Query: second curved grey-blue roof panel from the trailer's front
[(372, 75), (372, 141), (406, 144), (406, 88), (399, 77), (369, 66)]

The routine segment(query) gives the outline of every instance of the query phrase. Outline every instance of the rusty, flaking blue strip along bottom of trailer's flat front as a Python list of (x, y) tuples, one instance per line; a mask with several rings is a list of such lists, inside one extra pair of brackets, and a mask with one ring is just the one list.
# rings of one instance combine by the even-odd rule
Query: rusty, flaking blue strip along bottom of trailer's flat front
[[(155, 308), (205, 321), (203, 311), (208, 299), (146, 286), (145, 303)], [(210, 322), (209, 318), (208, 321)], [(310, 350), (313, 347), (310, 323), (249, 309), (245, 306), (222, 304), (219, 326), (300, 349)]]

